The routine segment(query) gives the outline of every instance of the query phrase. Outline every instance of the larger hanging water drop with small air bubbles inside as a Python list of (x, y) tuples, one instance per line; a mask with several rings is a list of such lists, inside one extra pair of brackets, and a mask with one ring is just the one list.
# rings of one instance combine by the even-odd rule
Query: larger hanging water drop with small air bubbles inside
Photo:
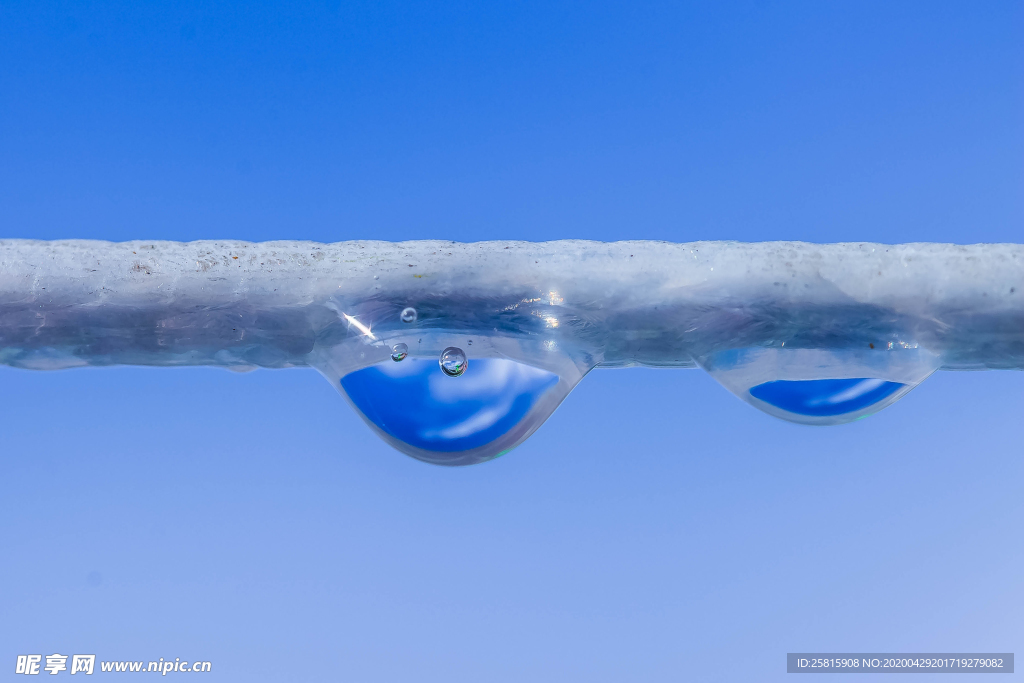
[(321, 333), (308, 362), (381, 438), (429, 463), (471, 465), (511, 451), (596, 365), (551, 335), (410, 331), (393, 311), (346, 311)]

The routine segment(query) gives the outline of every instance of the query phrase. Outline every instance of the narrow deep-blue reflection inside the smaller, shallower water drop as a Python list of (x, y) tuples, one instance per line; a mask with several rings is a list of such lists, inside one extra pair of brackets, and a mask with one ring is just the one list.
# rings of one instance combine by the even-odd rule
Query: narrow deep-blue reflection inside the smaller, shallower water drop
[(753, 387), (751, 395), (788, 413), (824, 418), (870, 408), (904, 386), (868, 378), (775, 380)]

